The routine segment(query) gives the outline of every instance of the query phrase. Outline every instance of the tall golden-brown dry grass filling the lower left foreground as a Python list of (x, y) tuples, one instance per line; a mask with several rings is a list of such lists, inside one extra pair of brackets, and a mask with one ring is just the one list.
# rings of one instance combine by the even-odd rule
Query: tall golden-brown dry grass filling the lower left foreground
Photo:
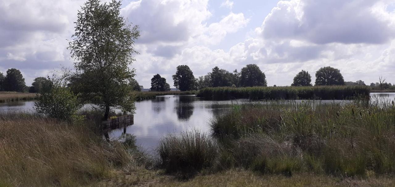
[(105, 142), (83, 124), (0, 114), (0, 184), (80, 186), (103, 180), (114, 168), (135, 162), (125, 147)]

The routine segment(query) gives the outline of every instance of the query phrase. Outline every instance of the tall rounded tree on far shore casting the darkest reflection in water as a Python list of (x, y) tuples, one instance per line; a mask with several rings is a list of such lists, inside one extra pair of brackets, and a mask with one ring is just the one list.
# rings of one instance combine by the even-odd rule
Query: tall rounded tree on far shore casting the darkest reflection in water
[(195, 76), (188, 65), (177, 66), (177, 71), (172, 77), (174, 86), (180, 91), (195, 90)]

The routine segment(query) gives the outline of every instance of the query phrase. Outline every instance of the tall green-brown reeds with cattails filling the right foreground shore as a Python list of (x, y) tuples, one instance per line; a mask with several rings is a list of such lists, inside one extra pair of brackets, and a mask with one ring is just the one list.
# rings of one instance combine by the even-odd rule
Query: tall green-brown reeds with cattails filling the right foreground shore
[(215, 118), (211, 129), (223, 146), (222, 166), (286, 175), (395, 172), (393, 101), (241, 105)]

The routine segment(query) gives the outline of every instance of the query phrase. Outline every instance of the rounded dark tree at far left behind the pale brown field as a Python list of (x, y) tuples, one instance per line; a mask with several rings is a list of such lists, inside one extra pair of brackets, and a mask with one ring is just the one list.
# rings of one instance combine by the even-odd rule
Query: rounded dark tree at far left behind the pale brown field
[(4, 91), (9, 92), (24, 92), (26, 84), (21, 71), (15, 68), (7, 70), (7, 75), (3, 81)]

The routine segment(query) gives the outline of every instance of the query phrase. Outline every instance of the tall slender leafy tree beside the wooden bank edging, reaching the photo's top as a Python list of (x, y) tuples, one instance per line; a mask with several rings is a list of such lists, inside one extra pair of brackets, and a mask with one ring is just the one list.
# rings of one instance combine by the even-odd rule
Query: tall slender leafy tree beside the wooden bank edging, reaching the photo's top
[(78, 12), (73, 40), (68, 49), (74, 58), (75, 73), (70, 77), (73, 90), (83, 101), (104, 110), (103, 120), (110, 107), (125, 112), (135, 109), (132, 86), (135, 61), (135, 40), (140, 36), (138, 27), (120, 16), (120, 2), (88, 0)]

